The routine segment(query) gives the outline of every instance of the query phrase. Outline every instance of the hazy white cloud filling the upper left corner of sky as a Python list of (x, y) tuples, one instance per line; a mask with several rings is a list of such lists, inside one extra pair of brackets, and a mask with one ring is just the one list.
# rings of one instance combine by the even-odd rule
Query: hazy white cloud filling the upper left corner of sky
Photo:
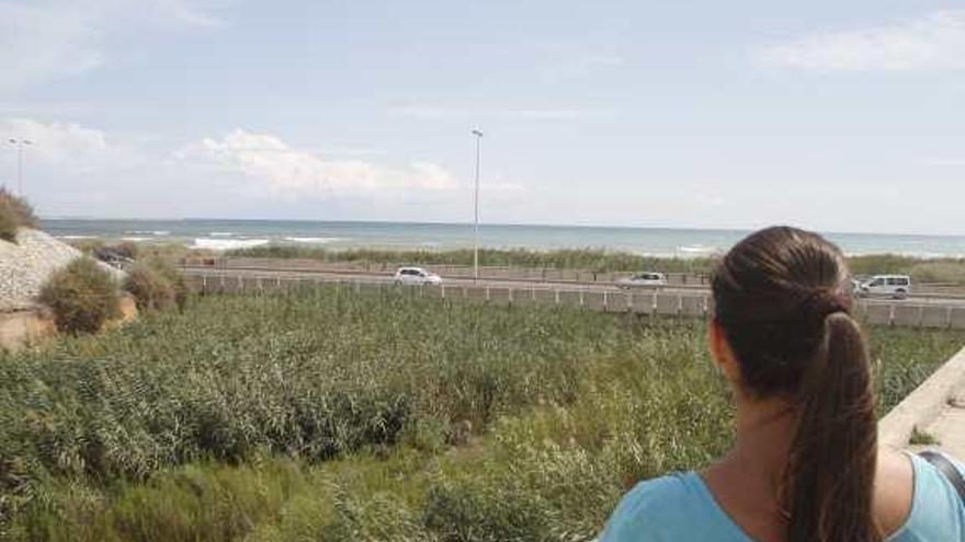
[(87, 0), (0, 4), (0, 92), (78, 76), (109, 61), (112, 37), (146, 27), (212, 27), (185, 0)]

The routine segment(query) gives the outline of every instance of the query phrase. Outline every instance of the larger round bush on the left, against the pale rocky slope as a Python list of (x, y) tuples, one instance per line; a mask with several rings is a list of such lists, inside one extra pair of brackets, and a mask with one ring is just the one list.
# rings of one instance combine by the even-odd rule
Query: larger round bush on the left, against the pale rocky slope
[(39, 300), (53, 310), (57, 330), (75, 335), (95, 333), (121, 314), (114, 278), (89, 257), (79, 257), (55, 273)]

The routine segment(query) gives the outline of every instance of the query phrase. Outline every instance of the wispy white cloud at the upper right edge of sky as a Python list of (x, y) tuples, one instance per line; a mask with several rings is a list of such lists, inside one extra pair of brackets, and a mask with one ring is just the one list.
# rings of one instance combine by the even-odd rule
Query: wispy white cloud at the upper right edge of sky
[(890, 25), (819, 32), (756, 49), (764, 66), (818, 71), (965, 69), (965, 10), (938, 11)]

